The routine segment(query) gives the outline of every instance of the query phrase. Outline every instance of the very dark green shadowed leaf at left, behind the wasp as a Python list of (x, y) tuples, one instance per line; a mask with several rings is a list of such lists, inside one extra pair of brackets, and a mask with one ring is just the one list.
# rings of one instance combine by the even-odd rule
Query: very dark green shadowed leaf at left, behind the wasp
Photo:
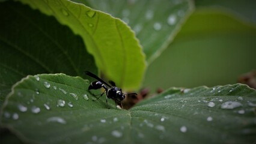
[(20, 2), (1, 2), (0, 10), (0, 106), (11, 86), (28, 74), (96, 73), (93, 56), (67, 26)]

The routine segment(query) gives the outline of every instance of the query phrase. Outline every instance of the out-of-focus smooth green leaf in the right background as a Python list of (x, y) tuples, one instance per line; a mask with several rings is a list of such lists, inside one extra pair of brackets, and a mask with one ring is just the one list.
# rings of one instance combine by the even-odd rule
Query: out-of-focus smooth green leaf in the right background
[(237, 83), (256, 69), (256, 26), (216, 9), (196, 10), (147, 68), (144, 86), (194, 88)]

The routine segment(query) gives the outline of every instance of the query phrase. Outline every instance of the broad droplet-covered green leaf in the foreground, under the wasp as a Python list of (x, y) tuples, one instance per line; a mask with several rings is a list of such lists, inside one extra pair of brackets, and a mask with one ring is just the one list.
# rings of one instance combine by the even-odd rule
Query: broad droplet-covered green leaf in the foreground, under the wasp
[(92, 101), (88, 85), (88, 80), (64, 74), (28, 76), (8, 95), (1, 124), (32, 143), (255, 140), (256, 91), (245, 85), (172, 88), (130, 110), (116, 109), (111, 100), (107, 109), (105, 96)]

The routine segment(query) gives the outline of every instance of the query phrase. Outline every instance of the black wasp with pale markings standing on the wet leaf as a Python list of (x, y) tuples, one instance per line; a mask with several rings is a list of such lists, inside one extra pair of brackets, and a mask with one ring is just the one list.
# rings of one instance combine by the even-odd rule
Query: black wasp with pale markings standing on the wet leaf
[[(117, 106), (117, 101), (118, 101), (120, 102), (121, 107), (123, 108), (121, 101), (124, 100), (124, 98), (126, 98), (125, 95), (134, 95), (134, 94), (136, 95), (136, 93), (123, 94), (122, 89), (117, 88), (114, 82), (109, 81), (109, 83), (111, 84), (109, 85), (104, 80), (100, 79), (100, 77), (97, 77), (95, 74), (91, 73), (90, 71), (85, 71), (85, 74), (87, 74), (90, 77), (93, 77), (94, 79), (97, 79), (97, 81), (91, 82), (90, 86), (88, 87), (88, 90), (104, 88), (105, 91), (100, 95), (100, 97), (106, 92), (106, 97), (114, 100), (115, 106)], [(98, 97), (96, 100), (98, 100), (100, 97)], [(108, 104), (107, 98), (106, 98), (106, 103)]]

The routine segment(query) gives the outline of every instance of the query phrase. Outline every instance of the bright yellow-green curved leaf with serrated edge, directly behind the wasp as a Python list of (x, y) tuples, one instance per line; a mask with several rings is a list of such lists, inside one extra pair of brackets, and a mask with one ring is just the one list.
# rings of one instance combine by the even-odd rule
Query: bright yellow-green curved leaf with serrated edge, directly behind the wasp
[(67, 0), (20, 1), (56, 17), (81, 35), (97, 67), (118, 86), (135, 89), (141, 85), (145, 56), (135, 34), (121, 20)]

